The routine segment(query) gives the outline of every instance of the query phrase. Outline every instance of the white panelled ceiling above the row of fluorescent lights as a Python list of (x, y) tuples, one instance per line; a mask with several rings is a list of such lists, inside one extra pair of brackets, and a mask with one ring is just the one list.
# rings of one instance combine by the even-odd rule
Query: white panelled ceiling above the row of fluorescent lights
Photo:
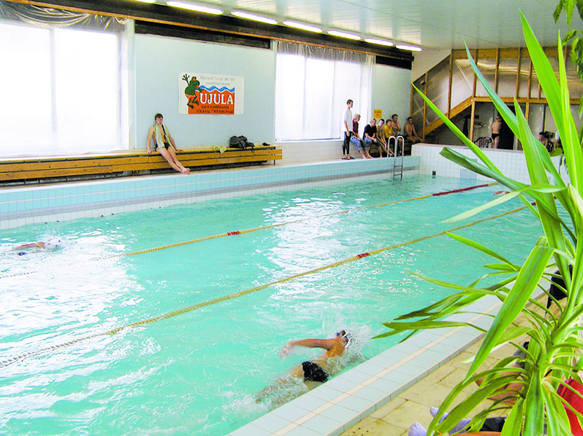
[[(162, 0), (158, 0), (163, 2)], [(186, 0), (195, 2), (195, 0)], [(568, 31), (564, 15), (553, 21), (556, 1), (514, 0), (208, 0), (225, 12), (243, 9), (280, 22), (294, 19), (363, 37), (391, 38), (424, 48), (524, 47), (519, 11), (543, 45), (557, 44), (557, 30)], [(575, 13), (573, 27), (583, 27)]]

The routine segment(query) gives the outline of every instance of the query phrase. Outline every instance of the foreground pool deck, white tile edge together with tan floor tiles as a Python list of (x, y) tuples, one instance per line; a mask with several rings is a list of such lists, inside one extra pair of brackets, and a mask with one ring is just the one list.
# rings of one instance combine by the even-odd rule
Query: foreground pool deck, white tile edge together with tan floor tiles
[[(475, 313), (445, 319), (487, 329), (493, 319), (488, 315), (496, 315), (500, 307), (497, 298), (487, 296), (468, 307)], [(475, 353), (482, 337), (467, 326), (425, 330), (229, 436), (406, 436), (415, 421), (429, 425), (429, 407), (439, 406), (465, 377), (469, 365), (462, 361)], [(484, 366), (513, 352), (509, 345), (501, 347)], [(472, 388), (467, 391), (469, 395)]]

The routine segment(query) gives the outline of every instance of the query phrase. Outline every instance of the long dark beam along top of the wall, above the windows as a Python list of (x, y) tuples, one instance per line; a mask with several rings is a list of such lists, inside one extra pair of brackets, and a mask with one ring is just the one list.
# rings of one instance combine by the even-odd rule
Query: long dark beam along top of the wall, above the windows
[(229, 15), (211, 15), (192, 10), (173, 8), (158, 3), (143, 3), (130, 0), (8, 0), (16, 3), (47, 6), (78, 12), (124, 17), (145, 22), (172, 24), (220, 33), (248, 37), (284, 40), (302, 44), (319, 45), (378, 55), (385, 58), (413, 62), (409, 51), (394, 47), (369, 44), (364, 41), (344, 40), (328, 34), (310, 33), (282, 25), (271, 25)]

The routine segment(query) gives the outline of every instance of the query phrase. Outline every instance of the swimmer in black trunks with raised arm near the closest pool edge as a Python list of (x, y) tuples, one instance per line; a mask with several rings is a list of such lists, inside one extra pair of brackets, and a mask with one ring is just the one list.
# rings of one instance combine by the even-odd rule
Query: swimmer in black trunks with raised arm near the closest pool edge
[[(332, 358), (342, 356), (349, 344), (350, 334), (346, 333), (346, 330), (340, 330), (332, 339), (302, 339), (290, 341), (285, 347), (283, 347), (279, 355), (282, 358), (286, 357), (291, 349), (297, 346), (321, 348), (326, 350), (325, 353), (322, 353), (317, 358), (305, 361), (301, 365), (292, 368), (289, 372), (289, 375), (292, 378), (296, 381), (303, 382), (309, 390), (328, 380), (329, 375), (333, 372), (333, 364), (331, 363), (331, 360), (333, 360)], [(281, 378), (275, 386), (268, 386), (263, 391), (259, 392), (256, 402), (260, 402), (270, 393), (276, 392), (278, 386), (286, 381), (289, 381), (289, 377)]]

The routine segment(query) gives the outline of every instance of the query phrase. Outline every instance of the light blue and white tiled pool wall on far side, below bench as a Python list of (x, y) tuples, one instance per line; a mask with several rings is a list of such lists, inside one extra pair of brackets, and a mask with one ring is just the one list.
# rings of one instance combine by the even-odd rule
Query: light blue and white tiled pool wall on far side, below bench
[[(217, 198), (268, 194), (390, 177), (395, 158), (338, 160), (295, 166), (201, 171), (124, 179), (0, 189), (0, 230), (134, 212)], [(403, 171), (417, 173), (419, 157), (405, 156)]]

